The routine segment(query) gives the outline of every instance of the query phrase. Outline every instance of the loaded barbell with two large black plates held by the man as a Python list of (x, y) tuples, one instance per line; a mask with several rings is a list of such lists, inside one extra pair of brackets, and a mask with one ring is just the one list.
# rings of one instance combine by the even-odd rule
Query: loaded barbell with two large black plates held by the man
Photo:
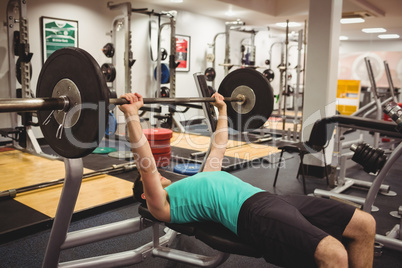
[[(229, 73), (218, 92), (224, 96), (229, 126), (246, 131), (261, 127), (273, 110), (273, 90), (253, 69)], [(49, 146), (66, 158), (90, 154), (101, 142), (109, 105), (123, 105), (124, 98), (109, 98), (105, 77), (95, 59), (80, 48), (62, 48), (45, 62), (38, 77), (36, 98), (0, 99), (0, 112), (37, 111)], [(145, 104), (214, 102), (203, 98), (144, 98)]]

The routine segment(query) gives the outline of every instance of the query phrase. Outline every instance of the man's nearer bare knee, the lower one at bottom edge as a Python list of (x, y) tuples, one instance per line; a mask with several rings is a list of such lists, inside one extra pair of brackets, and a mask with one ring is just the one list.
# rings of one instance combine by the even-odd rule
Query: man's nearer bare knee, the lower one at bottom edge
[(330, 235), (320, 241), (314, 258), (318, 267), (348, 267), (348, 253), (345, 247)]

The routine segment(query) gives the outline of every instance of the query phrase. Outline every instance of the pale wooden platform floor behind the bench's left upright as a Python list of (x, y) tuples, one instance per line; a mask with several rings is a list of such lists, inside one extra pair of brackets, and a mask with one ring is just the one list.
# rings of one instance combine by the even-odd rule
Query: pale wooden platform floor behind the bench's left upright
[[(84, 173), (90, 172), (84, 169)], [(64, 162), (35, 156), (19, 150), (0, 153), (0, 191), (64, 178)], [(62, 184), (18, 194), (14, 200), (51, 218), (56, 214)], [(74, 212), (89, 209), (132, 195), (133, 183), (100, 175), (85, 179)]]

